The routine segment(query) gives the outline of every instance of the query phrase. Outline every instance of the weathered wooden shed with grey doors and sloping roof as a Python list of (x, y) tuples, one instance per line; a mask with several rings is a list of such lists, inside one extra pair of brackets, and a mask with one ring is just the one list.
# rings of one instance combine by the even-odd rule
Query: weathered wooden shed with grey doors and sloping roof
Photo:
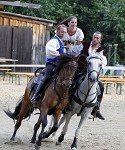
[(0, 57), (18, 64), (44, 64), (54, 21), (0, 11)]

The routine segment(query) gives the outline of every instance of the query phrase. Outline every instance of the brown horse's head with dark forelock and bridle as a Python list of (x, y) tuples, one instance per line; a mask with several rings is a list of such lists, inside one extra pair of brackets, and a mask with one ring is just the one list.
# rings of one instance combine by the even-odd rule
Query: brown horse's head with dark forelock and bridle
[(69, 89), (72, 85), (75, 71), (77, 69), (77, 62), (71, 55), (62, 55), (61, 61), (61, 70), (58, 76), (58, 83), (61, 83), (65, 89)]

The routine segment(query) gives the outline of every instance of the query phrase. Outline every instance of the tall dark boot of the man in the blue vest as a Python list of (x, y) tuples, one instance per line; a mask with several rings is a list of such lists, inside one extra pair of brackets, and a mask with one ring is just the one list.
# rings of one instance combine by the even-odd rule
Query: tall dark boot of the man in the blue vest
[(44, 80), (41, 80), (35, 90), (35, 93), (31, 99), (32, 104), (37, 104), (39, 97), (40, 97), (40, 91), (42, 91), (42, 89), (44, 88)]

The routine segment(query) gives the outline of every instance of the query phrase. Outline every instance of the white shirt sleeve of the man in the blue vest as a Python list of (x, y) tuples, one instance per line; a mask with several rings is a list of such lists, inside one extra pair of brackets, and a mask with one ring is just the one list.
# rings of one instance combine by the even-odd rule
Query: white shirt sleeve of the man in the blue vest
[(46, 44), (46, 57), (47, 58), (55, 58), (59, 56), (59, 51), (57, 51), (60, 48), (59, 42), (57, 39), (51, 39)]

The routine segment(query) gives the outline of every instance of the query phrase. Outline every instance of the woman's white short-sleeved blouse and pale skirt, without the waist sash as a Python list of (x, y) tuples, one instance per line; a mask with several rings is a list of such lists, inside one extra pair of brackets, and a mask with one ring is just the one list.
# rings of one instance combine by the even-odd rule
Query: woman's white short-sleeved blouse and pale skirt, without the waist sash
[[(63, 40), (64, 41), (70, 41), (70, 42), (75, 42), (75, 41), (83, 41), (84, 39), (84, 33), (80, 28), (77, 28), (76, 33), (72, 36), (69, 36), (68, 33), (65, 34)], [(81, 53), (81, 50), (83, 49), (82, 43), (79, 45), (71, 45), (69, 46), (69, 54), (78, 56)]]

